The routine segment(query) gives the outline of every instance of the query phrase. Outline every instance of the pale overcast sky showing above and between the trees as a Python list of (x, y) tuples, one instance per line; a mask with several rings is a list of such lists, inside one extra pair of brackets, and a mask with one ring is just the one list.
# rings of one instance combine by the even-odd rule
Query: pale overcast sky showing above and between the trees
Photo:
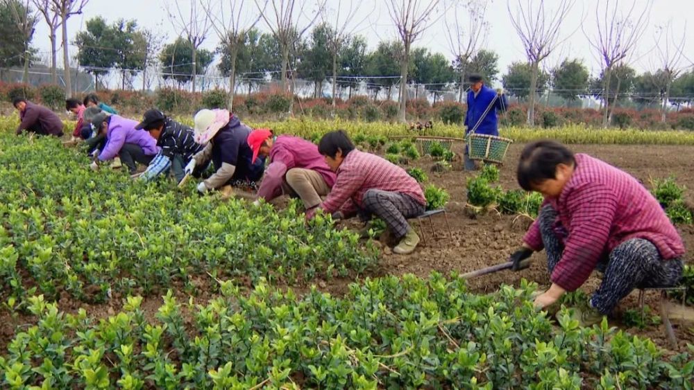
[[(187, 7), (189, 0), (179, 0), (183, 6)], [(208, 0), (204, 0), (205, 2)], [(234, 0), (223, 0), (227, 1)], [(262, 1), (262, 0), (259, 0)], [(448, 0), (451, 1), (451, 0)], [(511, 1), (511, 8), (515, 9), (518, 0)], [(521, 0), (526, 3), (528, 0)], [(604, 1), (604, 0), (602, 0)], [(614, 0), (613, 0), (614, 1)], [(620, 8), (627, 10), (631, 6), (633, 0), (619, 1)], [(176, 39), (178, 32), (171, 24), (167, 13), (164, 10), (165, 3), (174, 3), (174, 0), (90, 0), (87, 4), (83, 15), (76, 15), (69, 20), (69, 36), (71, 41), (74, 35), (85, 26), (85, 22), (92, 17), (101, 16), (107, 21), (115, 21), (117, 19), (135, 19), (137, 24), (157, 30), (167, 36), (167, 41), (172, 42)], [(241, 1), (238, 1), (240, 3)], [(297, 1), (300, 3), (301, 1)], [(310, 0), (304, 0), (306, 3), (311, 3)], [(459, 1), (464, 3), (466, 1)], [(549, 0), (549, 4), (555, 4), (558, 1)], [(255, 3), (253, 0), (243, 0), (244, 7), (248, 10), (248, 19), (257, 16), (255, 11)], [(328, 0), (328, 8), (335, 10), (339, 1)], [(341, 2), (346, 8), (350, 1), (344, 0)], [(584, 34), (584, 30), (589, 35), (595, 33), (595, 6), (598, 0), (577, 0), (575, 6), (570, 11), (570, 16), (561, 27), (563, 38), (566, 39), (559, 46), (555, 54), (546, 60), (544, 67), (546, 69), (555, 67), (565, 57), (574, 57), (584, 60), (592, 73), (600, 71), (600, 62), (595, 58), (588, 39)], [(648, 0), (636, 0), (637, 8), (643, 9)], [(355, 33), (366, 37), (369, 48), (373, 49), (378, 45), (380, 40), (396, 39), (396, 29), (391, 22), (384, 0), (353, 0), (353, 4), (359, 8), (355, 22), (363, 21), (359, 26), (354, 28)], [(310, 7), (314, 8), (314, 7)], [(550, 6), (551, 8), (551, 6)], [(309, 11), (310, 12), (310, 11)], [(455, 8), (449, 8), (446, 12), (446, 17), (457, 17), (466, 19), (464, 8), (459, 8), (456, 12)], [(657, 26), (662, 26), (671, 21), (676, 37), (681, 38), (686, 32), (687, 42), (685, 53), (688, 55), (688, 60), (683, 60), (683, 64), (688, 66), (694, 61), (694, 0), (655, 0), (651, 8), (648, 30), (643, 35), (643, 38), (636, 47), (632, 67), (637, 71), (652, 71), (659, 67), (657, 60), (657, 52), (653, 50), (655, 45), (655, 36)], [(499, 55), (500, 73), (505, 73), (507, 66), (514, 61), (524, 60), (523, 47), (521, 40), (516, 35), (516, 31), (511, 26), (511, 19), (507, 10), (507, 0), (491, 0), (486, 10), (486, 21), (489, 22), (489, 35), (486, 39), (485, 48), (496, 51)], [(357, 24), (357, 23), (355, 23)], [(257, 25), (261, 30), (269, 31), (264, 21), (260, 21)], [(581, 28), (582, 26), (582, 28)], [(679, 39), (678, 38), (678, 39)], [(210, 30), (210, 36), (204, 42), (203, 48), (213, 50), (219, 39)], [(50, 49), (47, 29), (44, 23), (37, 26), (37, 31), (34, 38), (34, 44), (39, 48), (42, 57), (48, 57)], [(443, 19), (433, 24), (423, 36), (418, 39), (414, 46), (423, 46), (431, 51), (443, 53), (446, 57), (452, 59), (450, 45), (446, 34), (446, 26)], [(71, 54), (76, 53), (76, 48), (72, 46)], [(62, 53), (62, 52), (61, 52)], [(60, 59), (60, 57), (59, 57)], [(60, 59), (62, 63), (62, 59)]]

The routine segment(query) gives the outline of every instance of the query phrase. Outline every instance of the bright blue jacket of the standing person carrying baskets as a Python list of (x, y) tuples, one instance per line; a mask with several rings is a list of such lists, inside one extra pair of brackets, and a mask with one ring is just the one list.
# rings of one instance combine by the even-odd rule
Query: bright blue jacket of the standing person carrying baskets
[[(479, 121), (482, 114), (484, 114), (486, 107), (489, 107), (489, 104), (492, 102), (492, 100), (494, 100), (494, 98), (496, 98), (496, 91), (487, 87), (486, 85), (482, 85), (482, 89), (480, 89), (480, 93), (477, 94), (477, 97), (475, 97), (475, 93), (473, 91), (468, 91), (468, 113), (465, 116), (465, 126), (467, 129), (465, 130), (465, 134), (473, 130), (473, 127), (475, 127), (477, 121)], [(505, 95), (502, 95), (496, 99), (496, 102), (494, 102), (491, 109), (489, 109), (489, 112), (486, 114), (484, 119), (482, 119), (482, 123), (480, 123), (480, 126), (477, 127), (475, 133), (498, 136), (499, 126), (497, 123), (496, 112), (497, 110), (506, 111), (507, 107), (509, 107), (509, 100)]]

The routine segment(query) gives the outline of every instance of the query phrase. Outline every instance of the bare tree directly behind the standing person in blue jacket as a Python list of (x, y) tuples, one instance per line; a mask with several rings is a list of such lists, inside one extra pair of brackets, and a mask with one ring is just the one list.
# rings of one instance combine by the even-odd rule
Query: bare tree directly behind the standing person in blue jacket
[[(460, 67), (459, 103), (463, 103), (465, 93), (466, 65), (484, 45), (486, 35), (489, 34), (489, 23), (484, 20), (488, 3), (484, 0), (468, 0), (463, 4), (457, 3), (455, 12), (448, 13), (443, 19), (446, 24), (450, 51)], [(465, 22), (461, 22), (463, 18), (459, 15), (459, 8), (466, 8), (467, 20)], [(448, 19), (453, 20), (449, 22)]]

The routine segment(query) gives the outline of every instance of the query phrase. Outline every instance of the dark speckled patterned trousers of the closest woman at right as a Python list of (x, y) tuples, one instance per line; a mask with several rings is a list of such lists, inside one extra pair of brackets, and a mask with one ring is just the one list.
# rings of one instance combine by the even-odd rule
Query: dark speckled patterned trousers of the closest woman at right
[[(539, 224), (550, 273), (564, 252), (559, 239), (561, 227), (555, 226), (556, 220), (557, 211), (550, 205), (544, 206)], [(634, 288), (668, 287), (682, 277), (682, 260), (663, 260), (655, 245), (642, 238), (622, 242), (607, 258), (601, 259), (596, 268), (604, 272), (604, 276), (590, 303), (602, 314), (609, 314)]]

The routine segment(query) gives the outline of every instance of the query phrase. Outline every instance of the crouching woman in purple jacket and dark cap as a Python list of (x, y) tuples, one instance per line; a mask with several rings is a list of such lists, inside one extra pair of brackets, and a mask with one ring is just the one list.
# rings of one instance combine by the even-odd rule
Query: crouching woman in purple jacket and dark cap
[(137, 171), (135, 161), (148, 166), (159, 152), (159, 147), (149, 132), (135, 130), (135, 126), (137, 121), (133, 119), (103, 112), (96, 114), (92, 119), (92, 129), (96, 135), (105, 135), (108, 141), (94, 159), (96, 165), (92, 165), (92, 168), (98, 168), (99, 161), (108, 161), (117, 155), (130, 170), (130, 175)]

